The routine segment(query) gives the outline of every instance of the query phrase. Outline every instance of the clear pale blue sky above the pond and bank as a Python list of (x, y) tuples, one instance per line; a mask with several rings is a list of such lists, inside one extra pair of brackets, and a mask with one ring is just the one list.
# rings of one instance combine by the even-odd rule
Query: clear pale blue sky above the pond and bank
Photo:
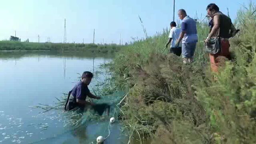
[[(242, 4), (250, 0), (176, 0), (177, 10), (184, 8), (190, 17), (206, 15), (206, 6), (216, 3), (227, 14), (229, 8), (232, 20)], [(252, 0), (256, 2), (256, 0)], [(0, 1), (0, 40), (16, 34), (24, 41), (62, 42), (64, 18), (66, 18), (67, 42), (119, 43), (120, 33), (123, 43), (132, 37), (144, 37), (138, 19), (142, 18), (148, 35), (162, 32), (169, 26), (173, 16), (173, 0), (1, 0)]]

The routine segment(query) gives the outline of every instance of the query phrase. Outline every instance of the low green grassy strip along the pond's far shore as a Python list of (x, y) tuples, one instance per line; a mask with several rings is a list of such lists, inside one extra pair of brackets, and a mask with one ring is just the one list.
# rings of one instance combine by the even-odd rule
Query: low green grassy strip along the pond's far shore
[(64, 44), (64, 43), (36, 43), (36, 42), (16, 42), (0, 41), (0, 50), (50, 50), (50, 51), (91, 51), (91, 52), (116, 52), (120, 50), (120, 45), (116, 44)]

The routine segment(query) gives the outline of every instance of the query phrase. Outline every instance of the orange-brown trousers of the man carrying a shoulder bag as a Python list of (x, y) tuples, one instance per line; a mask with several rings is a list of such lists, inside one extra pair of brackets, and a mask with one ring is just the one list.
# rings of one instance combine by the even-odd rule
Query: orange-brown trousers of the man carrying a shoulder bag
[(210, 63), (211, 63), (211, 69), (213, 72), (218, 72), (218, 66), (219, 66), (219, 56), (224, 56), (226, 58), (230, 58), (230, 52), (229, 52), (229, 40), (228, 39), (222, 39), (221, 40), (221, 52), (217, 54), (209, 54), (210, 55)]

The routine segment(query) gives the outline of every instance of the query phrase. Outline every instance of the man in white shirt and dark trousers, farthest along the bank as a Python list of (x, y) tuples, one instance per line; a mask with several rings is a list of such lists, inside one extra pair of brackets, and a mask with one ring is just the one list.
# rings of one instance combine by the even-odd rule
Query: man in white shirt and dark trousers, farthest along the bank
[(168, 44), (171, 43), (170, 46), (170, 53), (176, 54), (177, 56), (180, 56), (182, 53), (182, 43), (180, 42), (178, 48), (175, 48), (175, 43), (178, 40), (179, 36), (180, 36), (180, 29), (176, 28), (176, 22), (171, 22), (170, 23), (171, 26), (171, 30), (170, 30), (170, 34), (169, 34), (169, 39), (167, 44), (165, 45), (165, 47), (168, 47)]

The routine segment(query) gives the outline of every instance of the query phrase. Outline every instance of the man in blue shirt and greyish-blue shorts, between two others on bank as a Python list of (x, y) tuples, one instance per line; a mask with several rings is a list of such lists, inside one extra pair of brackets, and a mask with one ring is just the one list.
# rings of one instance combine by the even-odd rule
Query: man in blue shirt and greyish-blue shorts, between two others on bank
[(193, 62), (193, 56), (198, 42), (196, 21), (190, 18), (184, 9), (178, 11), (178, 16), (182, 20), (180, 37), (176, 41), (175, 47), (178, 48), (182, 40), (183, 63)]

